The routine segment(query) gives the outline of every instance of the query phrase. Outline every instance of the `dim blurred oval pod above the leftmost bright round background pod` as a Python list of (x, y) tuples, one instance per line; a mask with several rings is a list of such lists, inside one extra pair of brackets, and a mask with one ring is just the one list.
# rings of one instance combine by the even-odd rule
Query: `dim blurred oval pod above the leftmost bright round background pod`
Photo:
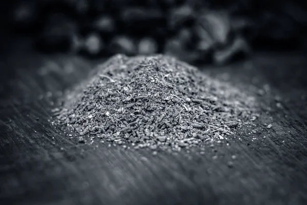
[(116, 22), (111, 16), (103, 15), (94, 20), (93, 27), (96, 31), (103, 34), (110, 34), (116, 30)]

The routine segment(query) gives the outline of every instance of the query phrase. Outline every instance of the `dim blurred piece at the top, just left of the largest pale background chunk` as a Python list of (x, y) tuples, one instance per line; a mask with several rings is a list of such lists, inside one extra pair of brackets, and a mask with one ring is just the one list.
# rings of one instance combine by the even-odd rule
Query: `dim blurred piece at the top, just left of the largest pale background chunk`
[(168, 28), (170, 30), (177, 30), (181, 27), (191, 25), (195, 18), (195, 11), (190, 5), (183, 5), (173, 8), (169, 11)]

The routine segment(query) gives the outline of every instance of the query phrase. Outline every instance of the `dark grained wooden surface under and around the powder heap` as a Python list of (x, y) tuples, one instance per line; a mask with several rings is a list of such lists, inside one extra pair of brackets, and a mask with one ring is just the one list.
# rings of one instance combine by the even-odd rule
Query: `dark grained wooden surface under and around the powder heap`
[(257, 95), (257, 132), (239, 130), (228, 141), (208, 145), (204, 155), (154, 156), (97, 139), (70, 139), (52, 124), (50, 109), (59, 91), (84, 78), (90, 64), (95, 63), (22, 51), (2, 57), (0, 204), (307, 204), (303, 57), (261, 54), (204, 68), (255, 95), (270, 88)]

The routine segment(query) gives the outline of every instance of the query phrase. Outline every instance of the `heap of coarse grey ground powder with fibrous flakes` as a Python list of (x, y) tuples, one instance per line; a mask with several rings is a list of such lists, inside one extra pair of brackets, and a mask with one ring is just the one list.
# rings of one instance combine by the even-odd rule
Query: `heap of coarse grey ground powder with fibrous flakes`
[(179, 151), (227, 139), (255, 99), (176, 58), (116, 55), (65, 96), (59, 124), (135, 148)]

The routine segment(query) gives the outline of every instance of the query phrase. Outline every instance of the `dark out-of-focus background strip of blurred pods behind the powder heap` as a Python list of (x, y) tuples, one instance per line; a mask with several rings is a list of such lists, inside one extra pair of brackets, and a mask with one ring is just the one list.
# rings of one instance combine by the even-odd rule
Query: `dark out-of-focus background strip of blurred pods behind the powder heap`
[(43, 53), (88, 58), (165, 53), (189, 63), (223, 65), (255, 51), (304, 52), (307, 46), (305, 1), (12, 0), (1, 4), (6, 31), (2, 35), (27, 38), (33, 49)]

